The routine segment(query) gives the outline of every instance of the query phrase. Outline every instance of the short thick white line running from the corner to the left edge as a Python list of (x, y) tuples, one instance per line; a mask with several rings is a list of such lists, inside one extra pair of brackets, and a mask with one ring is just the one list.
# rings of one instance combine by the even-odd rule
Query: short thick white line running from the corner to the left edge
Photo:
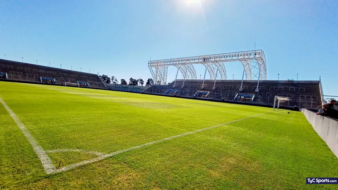
[(18, 125), (18, 127), (21, 129), (22, 133), (26, 136), (28, 142), (33, 147), (35, 153), (37, 153), (39, 159), (41, 160), (42, 166), (45, 168), (46, 173), (55, 172), (55, 167), (52, 164), (52, 161), (48, 157), (47, 153), (44, 151), (44, 149), (33, 138), (32, 134), (30, 134), (28, 129), (25, 127), (25, 125), (21, 123), (17, 115), (15, 115), (15, 113), (8, 107), (8, 105), (1, 99), (1, 97), (0, 97), (0, 102), (5, 107), (5, 109), (8, 111), (9, 115), (13, 118), (13, 120)]

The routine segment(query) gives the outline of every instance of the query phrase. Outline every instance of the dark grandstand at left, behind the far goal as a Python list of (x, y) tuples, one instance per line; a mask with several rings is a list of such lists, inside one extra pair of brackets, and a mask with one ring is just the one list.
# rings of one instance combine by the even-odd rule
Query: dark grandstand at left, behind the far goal
[(41, 82), (65, 85), (65, 82), (78, 83), (82, 87), (106, 88), (96, 74), (46, 67), (0, 59), (2, 79)]

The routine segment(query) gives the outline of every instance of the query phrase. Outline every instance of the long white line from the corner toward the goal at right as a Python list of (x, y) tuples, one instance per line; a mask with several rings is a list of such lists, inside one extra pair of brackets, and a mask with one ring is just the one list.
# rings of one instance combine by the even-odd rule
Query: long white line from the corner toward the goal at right
[(93, 158), (93, 159), (89, 159), (89, 160), (85, 160), (85, 161), (78, 162), (78, 163), (75, 163), (75, 164), (71, 164), (71, 165), (68, 165), (68, 166), (65, 166), (65, 167), (62, 167), (62, 168), (59, 168), (59, 169), (55, 169), (53, 171), (53, 173), (70, 170), (72, 168), (76, 168), (76, 167), (79, 167), (79, 166), (84, 165), (84, 164), (89, 164), (89, 163), (97, 162), (97, 161), (103, 160), (105, 158), (118, 155), (118, 154), (123, 153), (123, 152), (127, 152), (127, 151), (138, 149), (138, 148), (142, 148), (142, 147), (145, 147), (145, 146), (148, 146), (148, 145), (152, 145), (152, 144), (155, 144), (155, 143), (159, 143), (159, 142), (162, 142), (162, 141), (171, 140), (171, 139), (174, 139), (174, 138), (177, 138), (177, 137), (182, 137), (182, 136), (185, 136), (185, 135), (190, 135), (190, 134), (193, 134), (193, 133), (201, 132), (203, 130), (212, 129), (212, 128), (215, 128), (215, 127), (223, 126), (223, 125), (234, 123), (234, 122), (237, 122), (237, 121), (246, 120), (246, 119), (249, 119), (249, 118), (252, 118), (252, 117), (257, 117), (257, 116), (260, 116), (260, 115), (263, 115), (263, 114), (266, 114), (266, 113), (268, 113), (268, 112), (265, 112), (265, 113), (262, 113), (262, 114), (257, 114), (257, 115), (254, 115), (254, 116), (249, 116), (249, 117), (242, 118), (242, 119), (237, 119), (237, 120), (226, 122), (226, 123), (221, 123), (221, 124), (214, 125), (214, 126), (211, 126), (211, 127), (206, 127), (206, 128), (202, 128), (202, 129), (198, 129), (198, 130), (193, 130), (191, 132), (175, 135), (175, 136), (172, 136), (172, 137), (167, 137), (167, 138), (156, 140), (156, 141), (152, 141), (152, 142), (149, 142), (149, 143), (133, 146), (133, 147), (126, 148), (126, 149), (123, 149), (123, 150), (119, 150), (119, 151), (116, 151), (116, 152), (113, 152), (113, 153), (110, 153), (110, 154), (107, 154), (107, 155), (102, 155), (100, 157), (96, 157), (96, 158)]

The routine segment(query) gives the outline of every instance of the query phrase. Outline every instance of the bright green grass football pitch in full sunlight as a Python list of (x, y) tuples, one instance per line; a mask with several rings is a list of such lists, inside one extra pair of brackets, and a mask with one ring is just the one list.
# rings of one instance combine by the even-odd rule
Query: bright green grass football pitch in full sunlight
[(2, 81), (0, 98), (55, 170), (227, 123), (47, 174), (0, 104), (0, 189), (337, 189), (305, 184), (338, 159), (300, 112)]

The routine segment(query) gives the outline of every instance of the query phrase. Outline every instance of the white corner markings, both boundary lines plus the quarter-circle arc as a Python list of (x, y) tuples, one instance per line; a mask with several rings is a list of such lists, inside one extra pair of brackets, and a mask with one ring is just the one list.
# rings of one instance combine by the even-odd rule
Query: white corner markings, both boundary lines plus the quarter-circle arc
[(167, 141), (167, 140), (174, 139), (174, 138), (177, 138), (177, 137), (182, 137), (182, 136), (185, 136), (185, 135), (201, 132), (203, 130), (208, 130), (208, 129), (211, 129), (211, 128), (215, 128), (215, 127), (219, 127), (219, 126), (222, 126), (222, 125), (234, 123), (234, 122), (237, 122), (237, 121), (242, 121), (242, 120), (245, 120), (245, 119), (249, 119), (249, 118), (252, 118), (252, 117), (257, 117), (259, 115), (263, 115), (263, 114), (268, 113), (268, 112), (265, 112), (265, 113), (262, 113), (262, 114), (257, 114), (257, 115), (254, 115), (254, 116), (249, 116), (249, 117), (242, 118), (242, 119), (237, 119), (237, 120), (234, 120), (234, 121), (229, 121), (229, 122), (226, 122), (226, 123), (221, 123), (221, 124), (218, 124), (218, 125), (214, 125), (214, 126), (211, 126), (211, 127), (206, 127), (206, 128), (194, 130), (194, 131), (191, 131), (191, 132), (175, 135), (175, 136), (172, 136), (172, 137), (167, 137), (167, 138), (164, 138), (164, 139), (160, 139), (160, 140), (152, 141), (152, 142), (149, 142), (149, 143), (133, 146), (133, 147), (126, 148), (126, 149), (123, 149), (123, 150), (112, 152), (112, 153), (107, 154), (107, 155), (102, 155), (102, 156), (99, 156), (99, 157), (96, 157), (96, 158), (93, 158), (93, 159), (84, 160), (82, 162), (78, 162), (78, 163), (75, 163), (75, 164), (64, 166), (62, 168), (55, 169), (54, 165), (52, 164), (52, 162), (51, 162), (51, 160), (48, 157), (48, 155), (47, 155), (46, 152), (82, 151), (82, 152), (87, 152), (87, 153), (93, 153), (93, 154), (96, 154), (96, 155), (101, 155), (102, 153), (96, 152), (96, 151), (91, 151), (91, 150), (79, 150), (79, 149), (56, 149), (56, 150), (47, 150), (47, 151), (45, 151), (39, 145), (39, 143), (33, 138), (33, 136), (30, 134), (30, 132), (28, 131), (28, 129), (19, 120), (19, 118), (15, 115), (15, 113), (1, 99), (1, 97), (0, 97), (0, 102), (5, 107), (5, 109), (8, 111), (9, 115), (13, 118), (13, 120), (18, 125), (18, 127), (21, 129), (22, 133), (25, 135), (25, 137), (27, 138), (28, 142), (33, 147), (35, 153), (37, 153), (39, 159), (41, 160), (42, 166), (45, 168), (45, 171), (46, 171), (47, 174), (70, 170), (72, 168), (76, 168), (76, 167), (84, 165), (84, 164), (89, 164), (89, 163), (97, 162), (97, 161), (103, 160), (105, 158), (112, 157), (112, 156), (118, 155), (118, 154), (123, 153), (123, 152), (127, 152), (129, 150), (138, 149), (138, 148), (141, 148), (141, 147), (144, 147), (144, 146), (148, 146), (148, 145), (152, 145), (152, 144), (155, 144), (155, 143), (159, 143), (159, 142), (162, 142), (162, 141)]

